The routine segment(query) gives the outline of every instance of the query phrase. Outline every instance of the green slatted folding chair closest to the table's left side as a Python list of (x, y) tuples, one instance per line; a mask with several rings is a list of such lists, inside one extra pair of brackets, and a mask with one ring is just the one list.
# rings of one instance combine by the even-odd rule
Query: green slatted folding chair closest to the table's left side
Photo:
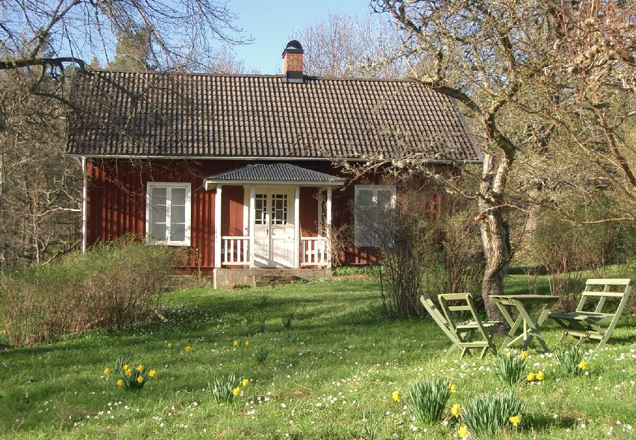
[[(460, 359), (470, 352), (471, 348), (481, 348), (481, 359), (488, 351), (492, 350), (497, 355), (497, 347), (494, 343), (494, 333), (501, 325), (499, 321), (482, 321), (477, 316), (477, 310), (473, 303), (473, 295), (469, 293), (448, 293), (438, 295), (439, 306), (444, 312), (446, 321), (451, 331), (457, 336), (457, 347), (462, 348)], [(452, 301), (452, 302), (451, 302)], [(455, 319), (459, 312), (469, 314), (469, 319), (459, 324)]]

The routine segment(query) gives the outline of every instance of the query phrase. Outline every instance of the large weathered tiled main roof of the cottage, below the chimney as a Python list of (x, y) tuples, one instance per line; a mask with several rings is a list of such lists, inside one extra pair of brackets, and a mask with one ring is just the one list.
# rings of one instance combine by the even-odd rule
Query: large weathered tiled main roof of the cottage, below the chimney
[(414, 81), (79, 74), (67, 153), (481, 160), (452, 99)]

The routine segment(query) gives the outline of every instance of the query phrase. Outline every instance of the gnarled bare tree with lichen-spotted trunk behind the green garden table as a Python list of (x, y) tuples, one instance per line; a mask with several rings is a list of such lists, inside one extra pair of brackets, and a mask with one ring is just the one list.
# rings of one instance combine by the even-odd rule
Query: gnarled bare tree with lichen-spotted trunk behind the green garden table
[[(376, 9), (408, 32), (413, 75), (457, 100), (478, 135), (478, 189), (436, 178), (478, 202), (482, 294), (497, 318), (488, 296), (502, 293), (511, 259), (507, 210), (537, 207), (546, 190), (552, 207), (559, 192), (598, 194), (601, 176), (633, 207), (633, 144), (623, 140), (633, 114), (633, 2), (382, 0)], [(576, 172), (581, 156), (595, 163), (593, 175)]]

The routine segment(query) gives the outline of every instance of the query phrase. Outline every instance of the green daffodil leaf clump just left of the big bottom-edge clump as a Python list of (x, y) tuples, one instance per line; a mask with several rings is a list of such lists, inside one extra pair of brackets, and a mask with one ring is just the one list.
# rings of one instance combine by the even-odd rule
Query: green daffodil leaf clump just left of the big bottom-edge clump
[(429, 425), (441, 418), (448, 397), (450, 397), (451, 383), (442, 378), (422, 380), (408, 385), (408, 406), (417, 423)]

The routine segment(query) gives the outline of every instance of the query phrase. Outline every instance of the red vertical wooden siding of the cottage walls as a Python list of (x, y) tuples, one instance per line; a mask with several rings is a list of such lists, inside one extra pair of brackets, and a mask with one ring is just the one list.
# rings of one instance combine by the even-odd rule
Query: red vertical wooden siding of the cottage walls
[[(87, 241), (112, 240), (127, 233), (139, 238), (146, 234), (146, 184), (150, 182), (184, 182), (192, 186), (190, 259), (184, 267), (200, 268), (205, 273), (214, 268), (214, 189), (203, 188), (204, 178), (226, 170), (244, 167), (244, 160), (125, 160), (92, 159), (88, 161), (86, 205)], [(294, 162), (300, 167), (338, 174), (328, 161)], [(357, 179), (344, 188), (333, 189), (333, 227), (353, 222), (354, 184), (382, 184), (380, 178)], [(399, 193), (399, 190), (398, 190)], [(326, 194), (325, 194), (326, 196)], [(431, 211), (439, 209), (439, 191), (427, 192)], [(223, 186), (221, 201), (222, 235), (247, 235), (243, 224), (244, 190), (242, 186)], [(300, 189), (300, 228), (303, 237), (318, 234), (317, 188)], [(432, 214), (433, 215), (433, 214)], [(352, 233), (352, 228), (350, 228)], [(353, 237), (349, 237), (350, 243)], [(377, 249), (347, 247), (340, 254), (345, 265), (368, 265), (378, 262)]]

